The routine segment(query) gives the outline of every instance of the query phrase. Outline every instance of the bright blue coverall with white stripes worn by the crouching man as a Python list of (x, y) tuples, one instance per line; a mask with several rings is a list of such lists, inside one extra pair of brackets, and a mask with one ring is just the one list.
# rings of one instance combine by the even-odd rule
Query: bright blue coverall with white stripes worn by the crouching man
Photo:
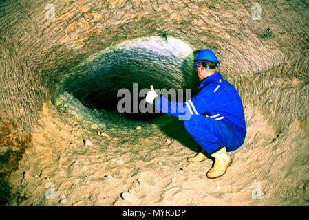
[(246, 137), (239, 94), (220, 72), (204, 78), (199, 89), (198, 95), (184, 103), (159, 96), (155, 100), (156, 109), (183, 120), (184, 129), (209, 155), (224, 146), (226, 151), (235, 151)]

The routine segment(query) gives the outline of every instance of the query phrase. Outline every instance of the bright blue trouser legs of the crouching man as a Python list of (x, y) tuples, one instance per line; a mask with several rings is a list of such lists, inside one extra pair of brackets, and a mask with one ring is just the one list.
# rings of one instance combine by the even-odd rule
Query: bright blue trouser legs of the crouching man
[(225, 146), (226, 151), (235, 151), (244, 143), (246, 133), (237, 127), (203, 115), (191, 115), (184, 120), (184, 129), (211, 155)]

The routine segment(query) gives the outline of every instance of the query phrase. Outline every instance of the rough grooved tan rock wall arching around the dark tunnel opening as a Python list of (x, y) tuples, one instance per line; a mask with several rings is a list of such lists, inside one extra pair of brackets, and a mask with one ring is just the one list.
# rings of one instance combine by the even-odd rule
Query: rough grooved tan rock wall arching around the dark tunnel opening
[[(46, 3), (55, 6), (54, 20)], [(279, 134), (308, 123), (308, 3), (259, 1), (0, 1), (1, 175), (17, 168), (42, 103), (85, 58), (125, 40), (173, 36), (210, 48), (221, 72)]]

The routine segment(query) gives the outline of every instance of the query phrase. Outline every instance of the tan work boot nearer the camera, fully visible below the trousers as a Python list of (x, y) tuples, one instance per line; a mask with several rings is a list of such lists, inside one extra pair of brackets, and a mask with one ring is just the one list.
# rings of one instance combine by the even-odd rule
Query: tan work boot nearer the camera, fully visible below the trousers
[(213, 168), (208, 171), (207, 177), (209, 177), (209, 179), (221, 177), (226, 172), (226, 168), (231, 165), (232, 159), (226, 152), (225, 147), (213, 153), (211, 157), (215, 158), (215, 164), (213, 164)]

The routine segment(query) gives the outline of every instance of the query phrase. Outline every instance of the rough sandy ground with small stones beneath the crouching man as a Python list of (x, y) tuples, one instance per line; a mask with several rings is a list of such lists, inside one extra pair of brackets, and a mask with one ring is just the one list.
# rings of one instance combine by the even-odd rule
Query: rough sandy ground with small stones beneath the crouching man
[(196, 144), (177, 119), (164, 115), (120, 127), (112, 115), (103, 123), (98, 111), (61, 97), (58, 109), (44, 104), (33, 146), (12, 176), (11, 205), (309, 205), (308, 133), (297, 121), (277, 137), (262, 114), (247, 107), (246, 141), (231, 153), (226, 174), (211, 180), (205, 175), (210, 159), (187, 162)]

